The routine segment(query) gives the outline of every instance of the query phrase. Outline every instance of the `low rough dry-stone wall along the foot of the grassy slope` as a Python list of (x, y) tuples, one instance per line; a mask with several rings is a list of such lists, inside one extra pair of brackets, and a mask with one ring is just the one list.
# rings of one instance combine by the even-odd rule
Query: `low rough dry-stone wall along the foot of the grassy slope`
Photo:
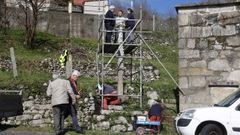
[[(156, 91), (147, 93), (148, 101), (157, 99), (159, 96)], [(111, 130), (114, 132), (133, 131), (134, 115), (143, 115), (144, 111), (128, 111), (127, 105), (109, 106), (109, 110), (100, 111), (100, 98), (89, 93), (78, 101), (78, 120), (84, 129), (87, 130)], [(7, 121), (0, 121), (0, 124), (23, 125), (33, 127), (52, 127), (53, 114), (50, 98), (30, 96), (23, 102), (23, 115), (9, 117)], [(174, 105), (175, 100), (167, 101), (169, 107)], [(141, 110), (141, 109), (139, 109)], [(168, 116), (166, 115), (166, 118)], [(68, 119), (69, 118), (69, 119)], [(65, 127), (71, 129), (70, 116), (65, 120)]]

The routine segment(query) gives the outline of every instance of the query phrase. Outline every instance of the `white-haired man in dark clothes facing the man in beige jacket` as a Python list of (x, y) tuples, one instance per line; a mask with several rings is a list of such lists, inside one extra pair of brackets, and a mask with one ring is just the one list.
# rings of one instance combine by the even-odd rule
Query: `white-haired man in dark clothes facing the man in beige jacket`
[[(75, 94), (76, 100), (80, 99), (80, 91), (77, 86), (77, 80), (80, 76), (80, 72), (78, 70), (74, 70), (71, 74), (71, 76), (68, 78), (70, 81), (72, 91)], [(77, 119), (77, 109), (76, 109), (76, 104), (69, 104), (69, 111), (70, 115), (72, 117), (72, 124), (74, 129), (76, 130), (77, 133), (83, 133), (82, 129), (80, 128), (78, 124), (78, 119)]]

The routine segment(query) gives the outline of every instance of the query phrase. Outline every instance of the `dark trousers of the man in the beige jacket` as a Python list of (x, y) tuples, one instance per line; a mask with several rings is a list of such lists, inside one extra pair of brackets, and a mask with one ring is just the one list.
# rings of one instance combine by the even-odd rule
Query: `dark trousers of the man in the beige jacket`
[(67, 104), (53, 106), (53, 121), (56, 135), (61, 135), (64, 133), (64, 114), (67, 106)]

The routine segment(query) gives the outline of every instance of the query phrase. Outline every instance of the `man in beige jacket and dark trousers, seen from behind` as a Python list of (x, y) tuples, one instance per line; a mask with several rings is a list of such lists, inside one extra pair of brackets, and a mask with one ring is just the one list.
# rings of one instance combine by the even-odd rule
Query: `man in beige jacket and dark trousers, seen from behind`
[(53, 73), (53, 81), (47, 88), (47, 95), (51, 96), (53, 108), (53, 121), (56, 135), (64, 135), (64, 114), (69, 104), (69, 96), (72, 98), (72, 104), (76, 99), (69, 81), (61, 79), (59, 72)]

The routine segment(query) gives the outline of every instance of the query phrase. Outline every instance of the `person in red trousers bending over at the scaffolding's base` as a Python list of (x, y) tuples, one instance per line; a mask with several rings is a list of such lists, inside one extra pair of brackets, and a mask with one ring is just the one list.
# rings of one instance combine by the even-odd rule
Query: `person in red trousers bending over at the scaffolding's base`
[(112, 86), (98, 84), (98, 91), (103, 94), (103, 109), (108, 110), (108, 105), (120, 105), (121, 99), (118, 98), (118, 92)]

